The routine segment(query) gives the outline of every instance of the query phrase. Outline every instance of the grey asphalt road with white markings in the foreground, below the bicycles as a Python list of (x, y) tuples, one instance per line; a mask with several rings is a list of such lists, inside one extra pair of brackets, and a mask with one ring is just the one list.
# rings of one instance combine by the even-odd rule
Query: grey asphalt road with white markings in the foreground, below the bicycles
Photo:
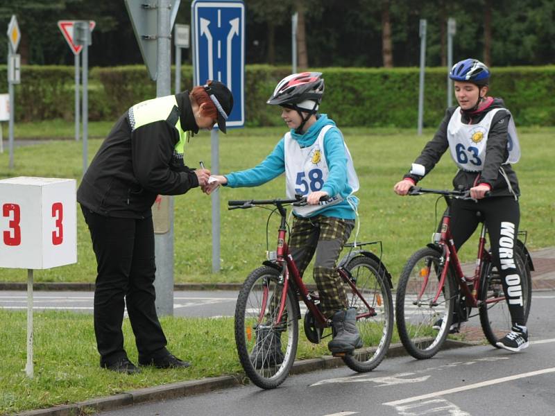
[(290, 376), (275, 390), (246, 385), (101, 415), (552, 416), (554, 300), (555, 291), (533, 293), (531, 345), (518, 354), (480, 345), (441, 351), (425, 361), (387, 358), (366, 374), (340, 367)]

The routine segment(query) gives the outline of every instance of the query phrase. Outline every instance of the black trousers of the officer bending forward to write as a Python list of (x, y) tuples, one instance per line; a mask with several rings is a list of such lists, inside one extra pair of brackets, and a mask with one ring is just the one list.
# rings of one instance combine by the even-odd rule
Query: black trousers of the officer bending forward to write
[(141, 358), (169, 354), (155, 309), (155, 255), (152, 218), (101, 216), (81, 207), (96, 254), (94, 333), (101, 365), (126, 357), (123, 349), (123, 311)]

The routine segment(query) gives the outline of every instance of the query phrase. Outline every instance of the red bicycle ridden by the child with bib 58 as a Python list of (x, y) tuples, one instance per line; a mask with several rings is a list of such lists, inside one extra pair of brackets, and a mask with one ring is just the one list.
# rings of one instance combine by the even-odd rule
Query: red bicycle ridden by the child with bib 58
[[(275, 211), (281, 216), (277, 250), (248, 275), (235, 309), (235, 343), (241, 365), (260, 388), (276, 388), (287, 378), (295, 360), (301, 319), (299, 300), (307, 306), (303, 324), (308, 340), (320, 343), (331, 335), (331, 331), (325, 334), (331, 321), (318, 309), (318, 295), (303, 283), (289, 254), (285, 206), (305, 205), (306, 199), (235, 200), (228, 204), (230, 209), (273, 205), (270, 216)], [(379, 365), (393, 333), (391, 275), (376, 254), (359, 249), (369, 244), (381, 247), (379, 241), (345, 245), (350, 252), (339, 261), (337, 269), (346, 285), (349, 307), (357, 310), (357, 328), (364, 343), (353, 354), (341, 357), (357, 372), (368, 372)]]

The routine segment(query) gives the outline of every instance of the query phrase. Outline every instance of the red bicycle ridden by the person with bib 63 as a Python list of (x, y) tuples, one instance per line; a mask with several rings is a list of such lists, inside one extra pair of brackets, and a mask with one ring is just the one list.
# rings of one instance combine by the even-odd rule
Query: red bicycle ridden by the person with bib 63
[[(431, 358), (443, 345), (450, 332), (453, 312), (462, 320), (472, 318), (477, 308), (481, 328), (489, 343), (511, 331), (511, 315), (507, 307), (499, 272), (486, 248), (486, 226), (482, 223), (474, 274), (463, 274), (450, 229), (452, 199), (470, 199), (468, 191), (442, 191), (413, 187), (409, 195), (435, 193), (445, 198), (447, 209), (441, 220), (441, 232), (433, 234), (433, 242), (415, 252), (402, 270), (395, 313), (401, 342), (414, 358)], [(526, 236), (526, 232), (520, 232)], [(525, 240), (516, 241), (515, 266), (521, 278), (524, 318), (528, 319), (531, 303), (531, 257)]]

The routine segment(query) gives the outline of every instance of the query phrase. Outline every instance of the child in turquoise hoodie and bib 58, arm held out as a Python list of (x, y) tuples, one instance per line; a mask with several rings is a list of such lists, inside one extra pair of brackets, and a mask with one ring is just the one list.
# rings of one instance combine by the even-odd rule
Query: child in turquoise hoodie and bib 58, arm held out
[[(289, 250), (301, 275), (316, 252), (314, 281), (320, 306), (332, 319), (336, 334), (328, 348), (333, 353), (349, 353), (362, 342), (355, 309), (348, 308), (336, 261), (355, 225), (358, 199), (352, 193), (359, 189), (359, 181), (341, 131), (326, 114), (318, 114), (323, 92), (320, 72), (283, 78), (266, 103), (280, 105), (282, 119), (291, 130), (260, 164), (246, 171), (216, 175), (215, 186), (257, 187), (285, 172), (287, 198), (295, 194), (307, 197), (305, 207), (293, 208)], [(331, 200), (321, 205), (323, 197)], [(279, 334), (271, 347), (280, 349)]]

